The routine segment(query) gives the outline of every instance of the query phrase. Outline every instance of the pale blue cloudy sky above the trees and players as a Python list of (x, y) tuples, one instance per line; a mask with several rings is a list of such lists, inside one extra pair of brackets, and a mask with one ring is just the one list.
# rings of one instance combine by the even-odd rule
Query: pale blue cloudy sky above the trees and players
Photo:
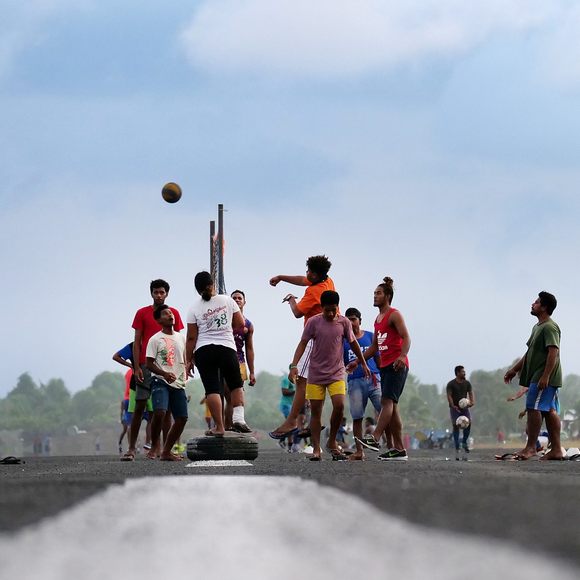
[(363, 327), (394, 279), (424, 383), (521, 356), (541, 290), (580, 373), (580, 2), (0, 8), (0, 396), (122, 370), (152, 279), (185, 316), (219, 203), (257, 371), (302, 328), (268, 280), (326, 254)]

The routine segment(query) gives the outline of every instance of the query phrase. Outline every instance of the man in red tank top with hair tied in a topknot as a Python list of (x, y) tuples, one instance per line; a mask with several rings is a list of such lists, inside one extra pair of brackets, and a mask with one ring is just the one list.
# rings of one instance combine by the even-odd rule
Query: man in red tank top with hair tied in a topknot
[[(399, 398), (409, 372), (407, 353), (411, 348), (411, 337), (402, 314), (391, 307), (393, 300), (393, 280), (385, 278), (374, 293), (374, 306), (379, 309), (375, 320), (373, 344), (365, 351), (369, 359), (379, 353), (381, 373), (381, 412), (377, 426), (372, 434), (365, 436), (360, 443), (374, 451), (379, 450), (379, 441), (385, 430), (389, 429), (393, 438), (393, 449), (381, 453), (383, 461), (406, 461), (407, 451), (403, 445), (403, 423), (399, 414)], [(347, 370), (349, 368), (347, 367)]]

